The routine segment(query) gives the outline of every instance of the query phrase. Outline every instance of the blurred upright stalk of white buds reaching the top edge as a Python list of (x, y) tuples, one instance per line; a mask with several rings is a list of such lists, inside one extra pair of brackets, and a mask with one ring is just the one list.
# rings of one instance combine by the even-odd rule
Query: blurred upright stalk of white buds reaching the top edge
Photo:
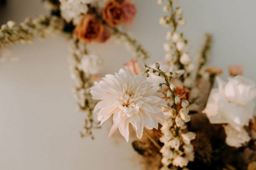
[[(162, 0), (163, 1), (163, 0)], [(158, 1), (158, 4), (162, 4), (162, 1)], [(163, 7), (164, 12), (169, 12), (169, 15), (164, 15), (160, 18), (159, 23), (164, 26), (171, 26), (172, 31), (168, 31), (166, 34), (166, 40), (171, 43), (164, 43), (163, 48), (166, 52), (165, 59), (171, 66), (178, 69), (185, 69), (186, 74), (183, 75), (184, 84), (187, 87), (191, 87), (190, 75), (194, 71), (195, 66), (191, 63), (191, 57), (186, 52), (187, 40), (183, 37), (183, 34), (177, 31), (178, 25), (185, 25), (185, 21), (182, 17), (183, 11), (180, 7), (174, 8), (173, 0), (168, 0), (168, 4)], [(188, 80), (186, 80), (188, 79)]]

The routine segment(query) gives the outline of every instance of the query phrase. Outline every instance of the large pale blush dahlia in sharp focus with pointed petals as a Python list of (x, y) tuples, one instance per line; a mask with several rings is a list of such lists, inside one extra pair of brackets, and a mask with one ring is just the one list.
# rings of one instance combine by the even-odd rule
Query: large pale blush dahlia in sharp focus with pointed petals
[[(164, 95), (156, 92), (151, 82), (139, 74), (131, 74), (125, 67), (115, 75), (106, 75), (91, 88), (93, 99), (101, 100), (95, 107), (101, 124), (113, 115), (111, 136), (118, 128), (120, 133), (129, 139), (129, 123), (141, 139), (143, 127), (158, 128), (160, 119), (164, 119), (161, 107), (167, 107)], [(100, 124), (100, 125), (101, 125)]]

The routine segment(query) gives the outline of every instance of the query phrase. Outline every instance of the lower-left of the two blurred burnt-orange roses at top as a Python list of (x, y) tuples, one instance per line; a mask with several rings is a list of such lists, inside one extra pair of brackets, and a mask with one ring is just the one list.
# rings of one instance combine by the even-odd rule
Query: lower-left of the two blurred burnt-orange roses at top
[(104, 43), (110, 37), (110, 31), (96, 20), (95, 15), (87, 14), (76, 25), (75, 36), (85, 43), (97, 41)]

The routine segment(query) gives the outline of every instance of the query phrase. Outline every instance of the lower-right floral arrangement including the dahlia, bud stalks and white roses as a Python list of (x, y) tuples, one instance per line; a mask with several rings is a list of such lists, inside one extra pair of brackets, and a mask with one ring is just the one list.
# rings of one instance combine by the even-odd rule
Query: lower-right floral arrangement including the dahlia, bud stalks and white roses
[(255, 169), (255, 83), (242, 76), (240, 65), (229, 66), (228, 82), (219, 78), (220, 68), (207, 67), (209, 34), (192, 63), (188, 40), (178, 31), (185, 25), (182, 9), (166, 2), (168, 14), (159, 20), (171, 28), (165, 60), (144, 63), (144, 71), (131, 60), (95, 82), (90, 93), (100, 101), (94, 114), (100, 125), (113, 119), (109, 136), (119, 129), (128, 141), (130, 128), (135, 130), (132, 145), (145, 169)]

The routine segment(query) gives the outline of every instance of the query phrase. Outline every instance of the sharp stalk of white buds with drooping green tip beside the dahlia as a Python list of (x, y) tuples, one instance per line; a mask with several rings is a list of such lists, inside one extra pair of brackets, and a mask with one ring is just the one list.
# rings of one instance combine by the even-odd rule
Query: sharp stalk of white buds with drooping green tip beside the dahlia
[[(171, 168), (186, 168), (189, 161), (194, 161), (194, 151), (191, 140), (196, 138), (196, 134), (193, 132), (184, 133), (186, 129), (186, 122), (191, 120), (189, 115), (189, 102), (184, 99), (180, 99), (179, 95), (175, 96), (174, 91), (176, 86), (171, 82), (172, 78), (177, 76), (171, 72), (163, 72), (159, 63), (155, 64), (155, 69), (144, 64), (147, 68), (143, 72), (144, 76), (148, 76), (148, 72), (158, 76), (157, 72), (165, 79), (165, 83), (159, 83), (157, 91), (161, 92), (162, 86), (168, 86), (166, 93), (168, 107), (162, 107), (162, 111), (166, 118), (163, 121), (161, 127), (162, 137), (160, 141), (164, 144), (160, 152), (162, 153), (162, 165), (161, 169)], [(178, 105), (181, 105), (181, 109), (178, 110)]]

